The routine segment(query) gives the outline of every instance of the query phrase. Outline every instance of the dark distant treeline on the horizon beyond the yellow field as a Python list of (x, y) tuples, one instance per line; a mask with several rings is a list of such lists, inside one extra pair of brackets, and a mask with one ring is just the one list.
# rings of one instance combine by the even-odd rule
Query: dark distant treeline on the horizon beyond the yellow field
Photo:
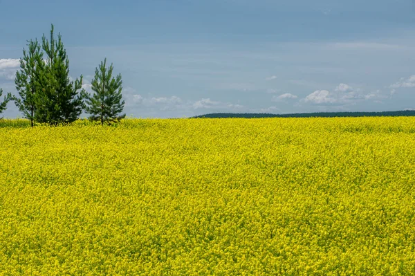
[(377, 117), (415, 116), (415, 110), (382, 112), (314, 112), (314, 113), (210, 113), (192, 118), (310, 118), (310, 117)]

